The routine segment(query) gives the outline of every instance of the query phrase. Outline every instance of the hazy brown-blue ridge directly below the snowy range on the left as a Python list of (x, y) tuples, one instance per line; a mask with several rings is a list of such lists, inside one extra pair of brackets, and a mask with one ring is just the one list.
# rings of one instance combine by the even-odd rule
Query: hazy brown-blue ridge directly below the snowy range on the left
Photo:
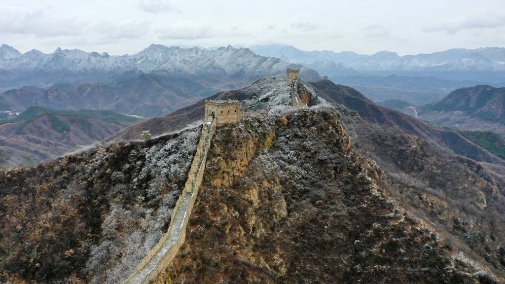
[[(56, 84), (48, 88), (24, 86), (0, 93), (2, 110), (21, 112), (30, 106), (58, 110), (113, 110), (144, 117), (160, 116), (215, 93), (190, 78), (164, 70), (123, 73), (116, 83)], [(205, 82), (203, 82), (205, 83)]]

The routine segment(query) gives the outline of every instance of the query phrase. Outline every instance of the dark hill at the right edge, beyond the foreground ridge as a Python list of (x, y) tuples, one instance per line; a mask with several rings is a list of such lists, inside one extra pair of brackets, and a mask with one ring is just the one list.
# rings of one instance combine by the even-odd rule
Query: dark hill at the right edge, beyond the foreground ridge
[(505, 88), (489, 85), (460, 88), (440, 101), (418, 108), (419, 117), (430, 123), (505, 135)]

